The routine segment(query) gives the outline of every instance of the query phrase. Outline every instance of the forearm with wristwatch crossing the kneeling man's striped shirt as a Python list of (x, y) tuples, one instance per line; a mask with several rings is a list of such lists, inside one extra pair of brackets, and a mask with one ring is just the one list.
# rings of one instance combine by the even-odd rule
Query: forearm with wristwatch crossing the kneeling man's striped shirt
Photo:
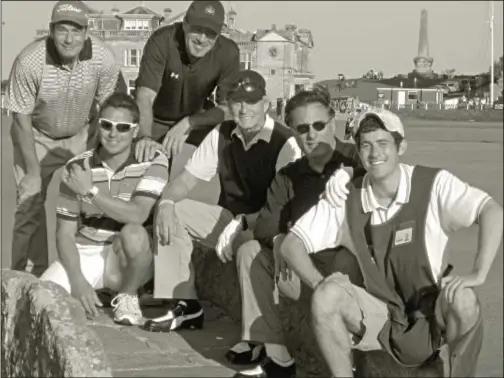
[(143, 224), (149, 212), (133, 201), (123, 201), (114, 198), (106, 191), (99, 191), (93, 199), (93, 205), (103, 211), (105, 215), (123, 224)]

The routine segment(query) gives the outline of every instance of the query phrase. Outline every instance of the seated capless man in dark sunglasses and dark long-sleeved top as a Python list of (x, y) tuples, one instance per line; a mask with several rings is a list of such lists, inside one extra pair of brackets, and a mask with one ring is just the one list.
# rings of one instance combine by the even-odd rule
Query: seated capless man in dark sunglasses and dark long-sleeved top
[[(355, 146), (336, 137), (334, 109), (327, 91), (302, 91), (289, 99), (285, 123), (294, 132), (304, 156), (276, 174), (257, 218), (255, 240), (241, 245), (236, 257), (242, 297), (242, 342), (231, 348), (226, 357), (234, 364), (260, 362), (259, 366), (241, 371), (240, 377), (295, 375), (294, 359), (283, 337), (277, 306), (279, 294), (309, 303), (311, 290), (302, 288), (299, 277), (286, 266), (279, 255), (280, 245), (291, 225), (318, 202), (327, 181), (342, 164), (355, 170), (354, 176), (365, 172)], [(325, 274), (338, 269), (350, 275), (352, 282), (362, 281), (357, 261), (346, 248), (318, 251), (313, 261)]]

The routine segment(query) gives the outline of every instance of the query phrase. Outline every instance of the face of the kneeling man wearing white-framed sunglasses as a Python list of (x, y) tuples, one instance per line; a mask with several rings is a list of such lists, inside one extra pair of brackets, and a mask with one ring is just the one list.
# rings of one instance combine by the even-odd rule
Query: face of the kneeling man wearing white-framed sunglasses
[[(131, 112), (124, 108), (107, 107), (102, 110), (100, 119), (103, 122), (99, 128), (99, 141), (107, 155), (129, 155), (133, 139), (138, 134), (138, 126), (123, 132), (118, 129), (127, 128), (127, 124), (134, 125)], [(110, 125), (111, 123), (119, 124)]]

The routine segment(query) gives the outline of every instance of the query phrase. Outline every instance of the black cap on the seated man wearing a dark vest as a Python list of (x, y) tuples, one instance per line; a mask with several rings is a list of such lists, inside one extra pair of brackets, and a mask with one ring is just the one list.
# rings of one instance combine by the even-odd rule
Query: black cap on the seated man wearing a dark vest
[(266, 81), (253, 70), (238, 72), (231, 80), (228, 101), (259, 102), (266, 95)]

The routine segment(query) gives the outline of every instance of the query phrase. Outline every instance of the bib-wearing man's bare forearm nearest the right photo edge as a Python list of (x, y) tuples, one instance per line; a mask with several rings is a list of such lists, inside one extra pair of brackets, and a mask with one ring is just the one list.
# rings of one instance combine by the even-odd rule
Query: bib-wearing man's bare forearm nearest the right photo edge
[(479, 216), (478, 252), (474, 262), (474, 273), (486, 280), (497, 251), (502, 242), (502, 207), (489, 200)]

